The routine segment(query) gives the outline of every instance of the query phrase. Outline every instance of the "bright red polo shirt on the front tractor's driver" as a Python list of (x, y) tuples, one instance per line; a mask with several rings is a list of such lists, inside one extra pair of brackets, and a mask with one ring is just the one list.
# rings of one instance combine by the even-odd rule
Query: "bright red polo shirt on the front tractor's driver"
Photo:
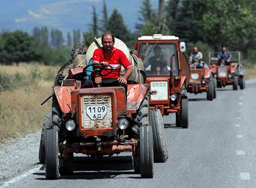
[[(108, 64), (113, 67), (112, 73), (102, 78), (119, 78), (121, 67), (124, 66), (124, 68), (127, 69), (131, 66), (131, 62), (129, 62), (124, 52), (115, 47), (113, 47), (109, 56), (106, 55), (102, 48), (97, 48), (93, 53), (92, 62), (108, 62)], [(102, 70), (102, 75), (109, 73), (109, 71), (111, 71), (111, 68), (108, 66), (106, 69)]]

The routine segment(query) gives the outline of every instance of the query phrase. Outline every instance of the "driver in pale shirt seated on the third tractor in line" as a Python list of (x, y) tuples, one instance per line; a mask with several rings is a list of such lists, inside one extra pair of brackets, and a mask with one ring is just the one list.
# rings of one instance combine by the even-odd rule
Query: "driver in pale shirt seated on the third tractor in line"
[(202, 60), (203, 60), (203, 53), (199, 52), (198, 47), (194, 47), (194, 51), (191, 53), (191, 55), (189, 57), (190, 68), (191, 69), (193, 69), (195, 67), (198, 69), (204, 68), (204, 62)]

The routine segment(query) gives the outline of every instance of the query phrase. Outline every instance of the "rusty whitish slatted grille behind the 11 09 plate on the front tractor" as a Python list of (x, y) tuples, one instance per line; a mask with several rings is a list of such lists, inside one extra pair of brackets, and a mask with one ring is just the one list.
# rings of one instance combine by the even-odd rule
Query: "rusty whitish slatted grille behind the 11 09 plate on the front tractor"
[(88, 95), (81, 97), (83, 129), (112, 127), (112, 105), (110, 95)]

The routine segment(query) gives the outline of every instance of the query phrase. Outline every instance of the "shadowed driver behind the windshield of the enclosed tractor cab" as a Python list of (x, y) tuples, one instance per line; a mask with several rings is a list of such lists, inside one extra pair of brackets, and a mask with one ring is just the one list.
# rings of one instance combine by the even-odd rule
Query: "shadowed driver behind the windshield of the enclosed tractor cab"
[(153, 48), (153, 52), (154, 56), (149, 57), (144, 62), (145, 69), (147, 70), (147, 67), (150, 65), (150, 71), (153, 75), (156, 75), (157, 72), (161, 74), (169, 74), (170, 72), (167, 68), (167, 60), (162, 54), (161, 47), (159, 47), (159, 45), (156, 45)]

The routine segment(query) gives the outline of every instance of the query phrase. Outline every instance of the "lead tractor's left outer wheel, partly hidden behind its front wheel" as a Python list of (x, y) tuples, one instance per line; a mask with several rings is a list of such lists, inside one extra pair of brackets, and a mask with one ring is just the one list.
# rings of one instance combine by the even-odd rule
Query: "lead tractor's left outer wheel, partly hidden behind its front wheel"
[(44, 124), (42, 127), (42, 132), (41, 132), (41, 139), (40, 139), (40, 146), (39, 146), (39, 163), (40, 164), (45, 164), (45, 134), (46, 134), (46, 129), (52, 126), (52, 113), (47, 112), (45, 115), (44, 119)]

